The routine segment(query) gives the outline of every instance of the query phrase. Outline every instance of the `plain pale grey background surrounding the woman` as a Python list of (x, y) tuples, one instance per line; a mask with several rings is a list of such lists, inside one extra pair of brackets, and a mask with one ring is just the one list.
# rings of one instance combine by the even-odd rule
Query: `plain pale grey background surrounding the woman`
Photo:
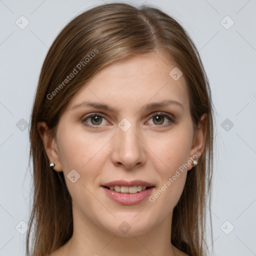
[[(26, 123), (48, 47), (72, 17), (103, 2), (112, 1), (0, 1), (0, 256), (24, 255), (31, 202)], [(183, 25), (209, 78), (216, 127), (208, 247), (217, 256), (256, 255), (256, 0), (146, 3)], [(29, 22), (23, 29), (22, 15)]]

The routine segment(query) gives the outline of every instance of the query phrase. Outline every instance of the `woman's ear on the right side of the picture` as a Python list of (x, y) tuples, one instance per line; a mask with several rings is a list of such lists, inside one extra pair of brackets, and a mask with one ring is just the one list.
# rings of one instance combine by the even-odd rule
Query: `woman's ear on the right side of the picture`
[[(202, 114), (200, 122), (195, 130), (192, 146), (190, 149), (190, 160), (193, 159), (193, 155), (197, 155), (197, 160), (202, 155), (205, 147), (205, 136), (206, 136), (206, 127), (207, 127), (207, 114)], [(190, 170), (193, 167), (192, 164), (189, 165), (187, 170)]]

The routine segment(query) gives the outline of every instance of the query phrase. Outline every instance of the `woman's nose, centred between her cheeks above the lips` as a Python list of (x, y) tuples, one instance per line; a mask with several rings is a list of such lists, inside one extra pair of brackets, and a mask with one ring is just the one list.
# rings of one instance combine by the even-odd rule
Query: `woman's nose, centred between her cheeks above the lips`
[(136, 125), (131, 125), (126, 131), (117, 127), (111, 152), (111, 160), (116, 166), (122, 165), (126, 169), (131, 169), (145, 163), (145, 145), (139, 134)]

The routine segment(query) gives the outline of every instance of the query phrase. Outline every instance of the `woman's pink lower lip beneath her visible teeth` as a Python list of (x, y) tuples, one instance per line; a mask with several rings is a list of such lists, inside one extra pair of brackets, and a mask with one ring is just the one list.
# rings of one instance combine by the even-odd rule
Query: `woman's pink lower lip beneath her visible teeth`
[(153, 190), (153, 186), (142, 190), (140, 192), (136, 192), (133, 194), (126, 194), (126, 193), (119, 193), (116, 192), (114, 190), (110, 190), (104, 186), (102, 186), (103, 189), (105, 190), (106, 194), (115, 202), (118, 202), (120, 204), (124, 204), (124, 205), (132, 205), (132, 204), (136, 204), (139, 203), (141, 201), (143, 201), (147, 196), (150, 195), (150, 193)]

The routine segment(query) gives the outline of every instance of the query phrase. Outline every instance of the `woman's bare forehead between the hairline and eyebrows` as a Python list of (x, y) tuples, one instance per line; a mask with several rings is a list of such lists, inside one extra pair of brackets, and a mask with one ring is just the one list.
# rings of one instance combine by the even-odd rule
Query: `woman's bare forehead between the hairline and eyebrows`
[(174, 61), (162, 52), (116, 60), (93, 75), (73, 95), (69, 107), (84, 100), (93, 100), (136, 108), (148, 102), (173, 99), (186, 108), (188, 94), (185, 78), (181, 75), (174, 80), (169, 74), (171, 70), (178, 70), (176, 68)]

